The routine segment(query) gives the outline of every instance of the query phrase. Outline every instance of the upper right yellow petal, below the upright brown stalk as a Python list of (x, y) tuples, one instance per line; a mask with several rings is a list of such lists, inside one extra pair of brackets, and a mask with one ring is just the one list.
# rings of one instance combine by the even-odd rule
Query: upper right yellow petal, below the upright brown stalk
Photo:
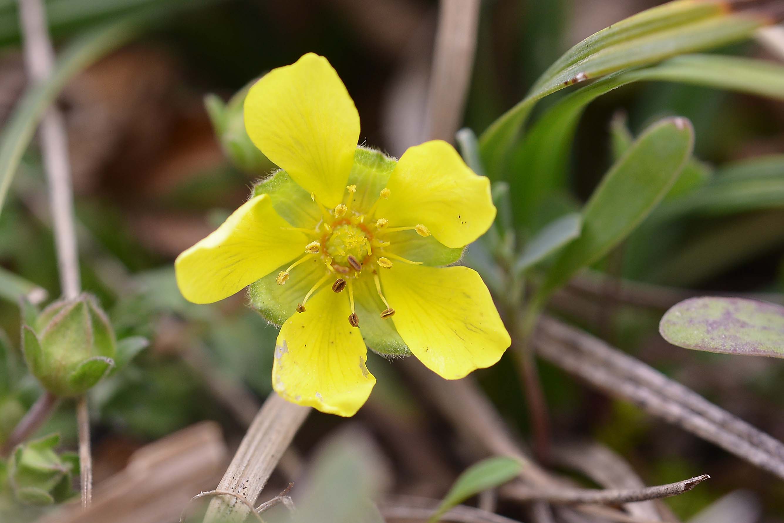
[(441, 140), (408, 148), (387, 183), (376, 216), (390, 227), (423, 224), (447, 247), (464, 247), (495, 220), (490, 180), (474, 174), (452, 145)]

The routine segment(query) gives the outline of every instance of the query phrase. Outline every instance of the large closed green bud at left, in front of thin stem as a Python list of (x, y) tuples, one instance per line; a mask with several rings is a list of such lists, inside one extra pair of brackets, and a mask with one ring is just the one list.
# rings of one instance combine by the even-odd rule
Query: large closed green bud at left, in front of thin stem
[(33, 327), (22, 327), (24, 359), (58, 397), (89, 390), (114, 367), (117, 341), (106, 313), (89, 294), (49, 305)]

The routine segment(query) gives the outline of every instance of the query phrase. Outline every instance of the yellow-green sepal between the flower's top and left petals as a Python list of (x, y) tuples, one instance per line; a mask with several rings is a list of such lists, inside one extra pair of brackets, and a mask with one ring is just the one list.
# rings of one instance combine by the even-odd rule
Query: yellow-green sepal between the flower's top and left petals
[(285, 170), (278, 170), (253, 186), (251, 196), (270, 195), (272, 207), (294, 227), (315, 229), (321, 210), (305, 189), (299, 187)]

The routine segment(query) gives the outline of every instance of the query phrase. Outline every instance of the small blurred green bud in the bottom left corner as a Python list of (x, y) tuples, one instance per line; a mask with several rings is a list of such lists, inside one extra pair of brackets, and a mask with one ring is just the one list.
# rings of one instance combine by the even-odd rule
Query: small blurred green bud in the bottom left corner
[(71, 477), (78, 474), (73, 452), (57, 455), (58, 434), (20, 444), (6, 464), (7, 481), (14, 497), (26, 505), (62, 503), (74, 495)]

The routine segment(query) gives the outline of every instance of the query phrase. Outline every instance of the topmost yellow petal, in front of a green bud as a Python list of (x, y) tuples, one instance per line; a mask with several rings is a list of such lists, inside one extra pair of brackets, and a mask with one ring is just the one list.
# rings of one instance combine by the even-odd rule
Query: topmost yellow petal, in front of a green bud
[(325, 57), (273, 69), (245, 97), (245, 129), (267, 158), (326, 207), (343, 198), (359, 113)]

